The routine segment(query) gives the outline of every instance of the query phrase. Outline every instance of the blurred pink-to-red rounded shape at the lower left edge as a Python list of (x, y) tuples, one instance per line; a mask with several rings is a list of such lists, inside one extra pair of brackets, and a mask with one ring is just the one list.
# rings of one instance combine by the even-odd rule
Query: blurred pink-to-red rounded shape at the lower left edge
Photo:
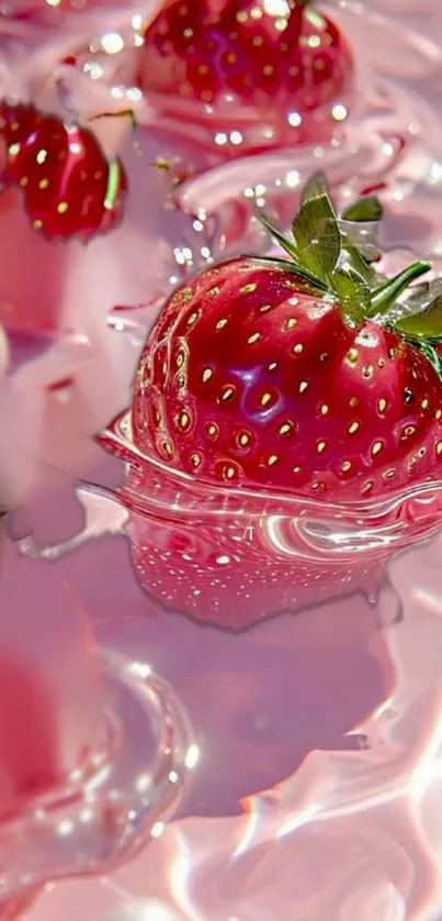
[[(2, 542), (0, 814), (83, 769), (102, 740), (100, 686), (88, 625), (69, 588)], [(34, 601), (30, 606), (30, 593)], [(79, 688), (81, 692), (79, 693)]]

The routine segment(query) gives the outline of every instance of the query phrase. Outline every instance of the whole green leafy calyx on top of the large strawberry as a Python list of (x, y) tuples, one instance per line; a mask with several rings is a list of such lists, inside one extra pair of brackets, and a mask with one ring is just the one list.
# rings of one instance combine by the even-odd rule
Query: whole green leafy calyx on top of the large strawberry
[(317, 174), (304, 188), (291, 236), (267, 214), (259, 217), (290, 257), (273, 262), (290, 267), (318, 295), (333, 298), (350, 320), (375, 319), (415, 343), (442, 340), (442, 282), (411, 285), (431, 264), (412, 263), (393, 278), (375, 269), (383, 217), (375, 196), (350, 204), (338, 217), (327, 180)]

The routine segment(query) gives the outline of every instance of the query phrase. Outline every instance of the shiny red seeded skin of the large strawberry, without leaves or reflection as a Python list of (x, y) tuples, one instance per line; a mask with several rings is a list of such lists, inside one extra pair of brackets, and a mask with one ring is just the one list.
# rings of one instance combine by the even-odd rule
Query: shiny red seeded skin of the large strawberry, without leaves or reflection
[(132, 417), (138, 448), (218, 486), (347, 501), (442, 470), (442, 384), (423, 354), (249, 257), (169, 299)]

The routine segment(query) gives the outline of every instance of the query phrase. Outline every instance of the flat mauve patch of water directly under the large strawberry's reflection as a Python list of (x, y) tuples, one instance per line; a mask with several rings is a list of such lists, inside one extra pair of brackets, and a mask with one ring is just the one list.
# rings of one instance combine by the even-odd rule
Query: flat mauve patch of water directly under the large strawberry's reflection
[[(101, 482), (110, 482), (111, 467), (107, 459)], [(122, 536), (134, 514), (127, 497), (124, 506), (112, 492), (81, 487), (78, 507), (68, 487), (39, 497), (11, 528), (22, 553), (75, 587), (99, 641), (150, 662), (185, 706), (201, 748), (185, 814), (237, 814), (240, 800), (280, 783), (311, 748), (359, 746), (358, 735), (343, 736), (390, 680), (387, 664), (373, 657), (373, 643), (382, 643), (374, 604), (349, 589), (240, 632), (223, 629), (219, 612), (218, 625), (173, 612), (135, 578)], [(227, 599), (225, 618), (226, 607)]]

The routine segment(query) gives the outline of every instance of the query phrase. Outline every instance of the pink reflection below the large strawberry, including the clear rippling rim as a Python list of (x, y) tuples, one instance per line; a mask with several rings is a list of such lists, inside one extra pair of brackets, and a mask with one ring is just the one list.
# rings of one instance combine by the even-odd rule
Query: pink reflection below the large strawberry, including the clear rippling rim
[(128, 462), (118, 498), (141, 587), (222, 629), (241, 631), (354, 591), (375, 597), (385, 561), (440, 522), (437, 486), (360, 507), (209, 489), (139, 455), (128, 415), (100, 440)]

